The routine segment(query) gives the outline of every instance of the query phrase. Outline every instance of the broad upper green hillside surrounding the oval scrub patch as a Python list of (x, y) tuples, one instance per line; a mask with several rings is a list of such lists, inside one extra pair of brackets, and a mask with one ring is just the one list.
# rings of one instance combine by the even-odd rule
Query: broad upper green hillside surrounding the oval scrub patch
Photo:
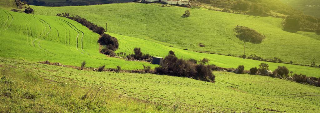
[[(175, 48), (208, 53), (255, 54), (265, 59), (277, 57), (295, 64), (320, 63), (319, 34), (290, 33), (283, 29), (280, 18), (259, 17), (220, 11), (189, 9), (191, 16), (182, 18), (186, 8), (160, 7), (150, 4), (104, 4), (92, 6), (31, 6), (36, 14), (56, 15), (68, 12), (106, 26), (108, 32), (154, 41)], [(244, 43), (234, 35), (236, 25), (252, 28), (266, 36), (261, 44)], [(199, 47), (203, 43), (205, 47)]]

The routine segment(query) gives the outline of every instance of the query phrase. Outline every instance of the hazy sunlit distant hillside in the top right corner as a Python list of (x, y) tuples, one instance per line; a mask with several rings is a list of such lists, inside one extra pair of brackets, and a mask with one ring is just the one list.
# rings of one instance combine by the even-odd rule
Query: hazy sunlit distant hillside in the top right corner
[(320, 18), (320, 1), (319, 0), (280, 0), (281, 2), (292, 6), (293, 8), (303, 11), (305, 14)]

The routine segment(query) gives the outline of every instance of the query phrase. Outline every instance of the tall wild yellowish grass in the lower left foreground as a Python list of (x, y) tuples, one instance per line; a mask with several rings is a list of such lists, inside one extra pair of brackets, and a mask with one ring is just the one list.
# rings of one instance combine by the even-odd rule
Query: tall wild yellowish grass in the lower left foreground
[(98, 88), (83, 88), (13, 68), (0, 68), (0, 78), (0, 112), (185, 112), (179, 105), (116, 95), (103, 83)]

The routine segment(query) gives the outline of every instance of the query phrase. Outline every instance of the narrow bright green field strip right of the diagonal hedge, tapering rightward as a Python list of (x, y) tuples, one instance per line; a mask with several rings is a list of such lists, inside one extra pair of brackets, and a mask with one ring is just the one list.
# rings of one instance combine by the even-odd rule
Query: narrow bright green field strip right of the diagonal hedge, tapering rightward
[(116, 53), (126, 52), (127, 54), (134, 54), (133, 49), (135, 47), (139, 47), (141, 48), (141, 51), (143, 53), (149, 53), (154, 56), (165, 57), (166, 55), (168, 55), (168, 52), (170, 50), (173, 50), (175, 51), (175, 54), (178, 57), (185, 58), (185, 59), (193, 58), (196, 60), (208, 58), (210, 59), (210, 62), (209, 62), (210, 64), (216, 64), (217, 66), (225, 67), (225, 68), (236, 68), (238, 67), (238, 65), (244, 65), (245, 70), (249, 70), (252, 67), (258, 67), (260, 63), (267, 63), (269, 64), (269, 68), (272, 71), (275, 70), (278, 66), (286, 66), (290, 71), (293, 71), (298, 74), (303, 73), (303, 74), (306, 74), (307, 76), (320, 77), (320, 73), (319, 73), (320, 68), (292, 65), (292, 64), (262, 62), (258, 60), (243, 59), (239, 57), (223, 56), (223, 55), (217, 55), (217, 54), (197, 53), (193, 51), (187, 51), (183, 49), (164, 46), (156, 42), (147, 41), (139, 38), (123, 36), (123, 35), (113, 34), (113, 33), (108, 33), (108, 34), (117, 37), (119, 41), (119, 49), (116, 51)]

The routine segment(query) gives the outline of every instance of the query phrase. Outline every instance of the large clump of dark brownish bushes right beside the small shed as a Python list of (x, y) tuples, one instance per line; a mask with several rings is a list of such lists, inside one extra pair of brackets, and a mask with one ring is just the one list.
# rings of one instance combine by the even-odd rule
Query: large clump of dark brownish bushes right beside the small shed
[(215, 75), (212, 74), (213, 65), (208, 65), (209, 60), (204, 58), (197, 62), (194, 59), (184, 60), (177, 58), (174, 52), (169, 53), (163, 63), (156, 67), (156, 73), (179, 77), (189, 77), (202, 81), (214, 82)]

